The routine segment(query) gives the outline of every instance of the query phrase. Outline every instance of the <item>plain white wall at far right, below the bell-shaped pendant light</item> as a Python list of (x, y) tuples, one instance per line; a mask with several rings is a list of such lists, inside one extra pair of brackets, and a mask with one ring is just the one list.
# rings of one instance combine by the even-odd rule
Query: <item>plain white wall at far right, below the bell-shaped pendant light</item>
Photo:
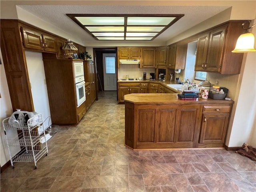
[[(251, 26), (253, 24), (256, 20)], [(252, 28), (252, 33), (256, 36), (256, 27)], [(244, 142), (256, 146), (256, 52), (246, 55), (234, 121), (227, 141), (229, 147), (242, 146)]]

